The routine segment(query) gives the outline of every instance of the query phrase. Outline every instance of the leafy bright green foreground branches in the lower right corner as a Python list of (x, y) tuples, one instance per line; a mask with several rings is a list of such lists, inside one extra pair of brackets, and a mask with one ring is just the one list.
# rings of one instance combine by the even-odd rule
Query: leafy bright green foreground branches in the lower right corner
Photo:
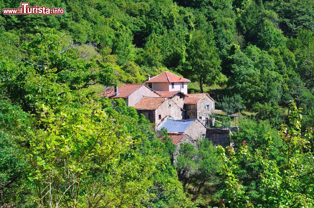
[[(225, 149), (219, 146), (220, 154), (224, 161), (221, 175), (225, 177), (226, 197), (230, 206), (242, 207), (259, 205), (263, 207), (311, 207), (313, 204), (313, 155), (310, 141), (313, 139), (313, 129), (307, 129), (301, 136), (302, 109), (295, 103), (290, 105), (291, 115), (289, 126), (282, 125), (279, 132), (281, 148), (274, 140), (272, 134), (263, 136), (263, 146), (249, 151), (246, 141), (239, 144), (239, 150), (229, 148), (228, 156)], [(273, 152), (279, 151), (284, 158), (279, 162), (273, 157)], [(239, 180), (239, 164), (245, 160), (250, 165), (257, 165), (259, 187), (263, 194), (259, 199), (250, 199), (250, 192), (244, 191), (244, 186)]]

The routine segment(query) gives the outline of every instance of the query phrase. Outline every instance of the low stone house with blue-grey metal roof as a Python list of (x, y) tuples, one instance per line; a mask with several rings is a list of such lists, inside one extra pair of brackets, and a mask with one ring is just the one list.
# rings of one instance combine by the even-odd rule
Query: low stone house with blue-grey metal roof
[(206, 127), (197, 119), (179, 120), (167, 118), (158, 127), (158, 131), (162, 128), (167, 129), (168, 133), (187, 134), (192, 140), (198, 140), (200, 137), (205, 137)]

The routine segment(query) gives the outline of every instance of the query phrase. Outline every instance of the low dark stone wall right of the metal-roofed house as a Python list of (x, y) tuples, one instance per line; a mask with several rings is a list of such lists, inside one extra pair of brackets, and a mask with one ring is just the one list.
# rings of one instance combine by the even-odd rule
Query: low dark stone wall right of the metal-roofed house
[(214, 145), (221, 145), (222, 147), (230, 146), (228, 135), (232, 132), (228, 129), (208, 128), (206, 129), (206, 138), (211, 140)]

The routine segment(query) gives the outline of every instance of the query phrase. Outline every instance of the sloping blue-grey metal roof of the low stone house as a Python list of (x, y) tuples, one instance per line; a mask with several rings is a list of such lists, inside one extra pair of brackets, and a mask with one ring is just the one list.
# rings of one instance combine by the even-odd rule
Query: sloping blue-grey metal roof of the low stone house
[(167, 118), (165, 123), (163, 123), (160, 128), (167, 129), (168, 132), (179, 132), (183, 133), (189, 128), (189, 126), (195, 121), (196, 119), (187, 119), (187, 120), (175, 120), (171, 118)]

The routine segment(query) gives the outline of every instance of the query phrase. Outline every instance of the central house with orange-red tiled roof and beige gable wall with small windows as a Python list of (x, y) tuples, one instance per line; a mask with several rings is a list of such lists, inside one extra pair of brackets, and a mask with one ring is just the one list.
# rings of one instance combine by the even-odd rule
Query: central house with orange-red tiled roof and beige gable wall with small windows
[(158, 125), (167, 117), (182, 119), (184, 111), (174, 101), (167, 97), (143, 96), (133, 106), (138, 114), (143, 113), (151, 123)]

